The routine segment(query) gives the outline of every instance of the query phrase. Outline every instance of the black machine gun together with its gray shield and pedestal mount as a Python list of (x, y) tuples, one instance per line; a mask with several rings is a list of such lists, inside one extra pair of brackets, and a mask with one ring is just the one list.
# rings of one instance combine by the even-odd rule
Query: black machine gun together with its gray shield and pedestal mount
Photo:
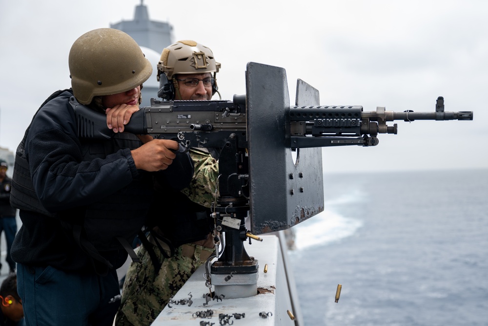
[[(109, 138), (105, 116), (73, 103), (79, 135)], [(325, 146), (376, 146), (379, 133), (397, 133), (393, 120), (472, 120), (473, 112), (446, 112), (439, 97), (435, 112), (392, 112), (361, 106), (319, 106), (319, 92), (298, 80), (289, 104), (285, 69), (249, 63), (246, 95), (233, 101), (152, 99), (134, 113), (125, 131), (175, 139), (187, 147), (222, 148), (220, 197), (212, 208), (224, 232), (223, 253), (212, 264), (215, 294), (242, 298), (256, 294), (258, 262), (244, 241), (251, 232), (290, 228), (324, 210), (322, 152)], [(292, 153), (295, 157), (292, 158)], [(224, 288), (228, 288), (229, 290)]]

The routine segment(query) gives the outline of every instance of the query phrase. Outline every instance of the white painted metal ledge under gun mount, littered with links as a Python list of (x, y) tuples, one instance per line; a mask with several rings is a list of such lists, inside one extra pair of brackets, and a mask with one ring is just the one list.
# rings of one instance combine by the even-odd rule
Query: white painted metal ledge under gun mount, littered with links
[[(191, 306), (170, 304), (171, 308), (166, 306), (152, 325), (197, 326), (203, 321), (218, 326), (221, 325), (219, 314), (232, 316), (234, 313), (245, 314), (244, 318), (239, 320), (231, 318), (231, 322), (233, 321), (235, 326), (303, 325), (293, 275), (291, 270), (286, 267), (285, 237), (278, 233), (278, 237), (264, 235), (261, 238), (262, 242), (253, 241), (251, 245), (244, 243), (249, 256), (253, 256), (259, 261), (257, 295), (239, 299), (211, 300), (206, 304), (204, 296), (208, 294), (208, 288), (203, 279), (205, 268), (200, 266), (173, 298), (178, 302), (188, 299), (188, 294), (191, 293)], [(282, 248), (284, 249), (282, 250)], [(264, 273), (266, 264), (267, 273)], [(196, 317), (198, 311), (208, 309), (213, 310), (212, 318)], [(294, 315), (293, 320), (289, 317), (287, 310)], [(262, 318), (260, 313), (266, 314), (267, 318)]]

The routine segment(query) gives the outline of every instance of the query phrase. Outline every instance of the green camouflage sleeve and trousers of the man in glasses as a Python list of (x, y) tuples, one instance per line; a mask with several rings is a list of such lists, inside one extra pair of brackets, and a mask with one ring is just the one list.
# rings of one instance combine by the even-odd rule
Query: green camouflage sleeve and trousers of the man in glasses
[[(194, 162), (195, 174), (190, 186), (182, 192), (192, 201), (210, 207), (215, 196), (218, 162), (202, 149), (191, 149), (190, 156)], [(115, 321), (117, 326), (150, 325), (169, 299), (214, 252), (212, 237), (209, 236), (206, 240), (177, 247), (174, 256), (168, 259), (155, 245), (157, 239), (148, 237), (148, 240), (162, 267), (155, 271), (147, 249), (144, 246), (138, 248), (137, 255), (141, 263), (131, 262), (127, 271), (122, 302)], [(169, 249), (164, 242), (160, 241), (160, 244)], [(169, 256), (169, 250), (165, 251)]]

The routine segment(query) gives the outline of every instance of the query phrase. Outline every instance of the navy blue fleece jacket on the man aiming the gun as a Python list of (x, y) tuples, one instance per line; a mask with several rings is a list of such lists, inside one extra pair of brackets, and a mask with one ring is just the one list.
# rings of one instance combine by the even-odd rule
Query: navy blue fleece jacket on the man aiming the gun
[[(52, 214), (20, 209), (22, 226), (12, 258), (26, 265), (92, 272), (93, 260), (70, 229), (75, 224), (117, 268), (127, 254), (113, 240), (140, 230), (153, 200), (154, 181), (183, 189), (193, 175), (193, 163), (187, 153), (180, 153), (167, 170), (137, 170), (130, 153), (142, 145), (137, 137), (122, 133), (100, 141), (77, 136), (71, 96), (66, 91), (49, 101), (28, 130), (24, 152), (32, 184), (39, 202)], [(165, 198), (155, 200), (162, 207), (169, 204)]]

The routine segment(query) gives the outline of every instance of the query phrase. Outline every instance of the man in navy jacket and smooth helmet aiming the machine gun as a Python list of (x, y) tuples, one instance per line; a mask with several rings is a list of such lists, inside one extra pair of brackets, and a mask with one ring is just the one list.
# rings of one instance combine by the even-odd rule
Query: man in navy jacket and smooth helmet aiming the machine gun
[[(22, 226), (12, 258), (27, 326), (111, 326), (116, 269), (144, 224), (154, 182), (183, 189), (193, 162), (175, 141), (123, 132), (152, 73), (129, 35), (89, 31), (68, 63), (71, 89), (41, 105), (16, 152), (10, 199)], [(114, 137), (80, 137), (70, 101), (104, 112)]]

